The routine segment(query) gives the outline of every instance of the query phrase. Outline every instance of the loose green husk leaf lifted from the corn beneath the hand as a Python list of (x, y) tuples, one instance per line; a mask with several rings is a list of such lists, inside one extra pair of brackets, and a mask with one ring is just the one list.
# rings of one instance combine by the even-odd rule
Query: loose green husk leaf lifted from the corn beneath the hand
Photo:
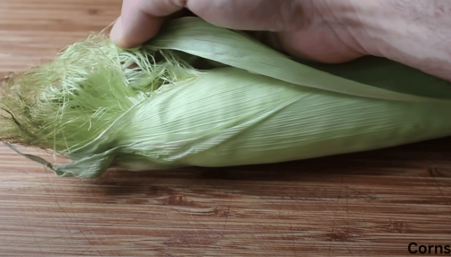
[[(200, 18), (189, 17), (172, 21), (150, 45), (155, 48), (180, 50), (285, 82), (348, 95), (399, 101), (451, 99), (451, 83), (412, 68), (406, 70), (404, 65), (387, 59), (384, 59), (382, 65), (395, 65), (395, 69), (388, 73), (387, 69), (381, 70), (365, 76), (369, 79), (362, 80), (358, 79), (362, 77), (358, 73), (361, 69), (351, 70), (350, 67), (342, 65), (329, 65), (323, 66), (324, 71), (318, 70), (291, 60), (243, 34), (218, 28)], [(366, 60), (366, 66), (377, 67), (381, 64), (380, 59), (376, 57)], [(400, 70), (403, 73), (397, 74)], [(387, 76), (389, 79), (383, 79)], [(431, 88), (426, 89), (423, 86), (420, 90), (410, 90), (412, 81), (409, 76), (417, 78), (417, 81), (420, 81), (418, 83), (431, 82), (428, 84)], [(380, 83), (387, 80), (391, 83)]]

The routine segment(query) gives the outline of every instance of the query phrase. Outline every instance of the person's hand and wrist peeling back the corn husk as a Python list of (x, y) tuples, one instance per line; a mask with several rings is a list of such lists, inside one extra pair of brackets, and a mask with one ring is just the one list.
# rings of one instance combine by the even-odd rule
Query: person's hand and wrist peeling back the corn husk
[(124, 0), (111, 39), (124, 48), (142, 44), (184, 8), (216, 26), (253, 31), (295, 57), (382, 56), (451, 80), (449, 0)]

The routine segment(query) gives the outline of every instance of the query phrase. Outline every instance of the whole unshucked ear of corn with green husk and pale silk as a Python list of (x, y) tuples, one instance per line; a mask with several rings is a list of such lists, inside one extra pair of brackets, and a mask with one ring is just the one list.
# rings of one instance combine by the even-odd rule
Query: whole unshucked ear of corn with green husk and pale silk
[(60, 176), (280, 162), (451, 135), (449, 82), (377, 57), (303, 64), (198, 18), (134, 49), (92, 36), (5, 79), (0, 94), (0, 139), (71, 158), (25, 155)]

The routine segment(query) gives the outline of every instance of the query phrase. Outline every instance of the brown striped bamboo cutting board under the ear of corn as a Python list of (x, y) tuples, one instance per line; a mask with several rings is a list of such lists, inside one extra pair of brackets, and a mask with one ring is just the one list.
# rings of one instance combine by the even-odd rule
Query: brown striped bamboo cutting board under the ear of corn
[[(120, 5), (0, 0), (0, 76), (101, 31)], [(411, 242), (451, 244), (450, 144), (95, 180), (57, 177), (2, 145), (0, 255), (412, 255)]]

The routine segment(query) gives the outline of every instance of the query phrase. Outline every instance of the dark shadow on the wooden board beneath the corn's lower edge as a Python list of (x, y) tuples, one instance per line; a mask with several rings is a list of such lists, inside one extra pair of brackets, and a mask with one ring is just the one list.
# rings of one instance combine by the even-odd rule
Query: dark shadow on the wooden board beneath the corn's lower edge
[[(341, 154), (308, 160), (273, 164), (244, 165), (221, 168), (187, 167), (174, 170), (127, 171), (107, 170), (89, 183), (110, 185), (112, 194), (160, 190), (159, 181), (173, 181), (176, 187), (189, 188), (205, 184), (210, 188), (233, 188), (237, 183), (255, 181), (290, 181), (299, 184), (334, 183), (344, 178), (355, 180), (368, 176), (383, 179), (396, 186), (397, 177), (451, 177), (451, 137), (387, 149)], [(153, 186), (151, 186), (153, 185)], [(165, 187), (167, 189), (167, 187)], [(109, 190), (105, 187), (105, 190)]]

